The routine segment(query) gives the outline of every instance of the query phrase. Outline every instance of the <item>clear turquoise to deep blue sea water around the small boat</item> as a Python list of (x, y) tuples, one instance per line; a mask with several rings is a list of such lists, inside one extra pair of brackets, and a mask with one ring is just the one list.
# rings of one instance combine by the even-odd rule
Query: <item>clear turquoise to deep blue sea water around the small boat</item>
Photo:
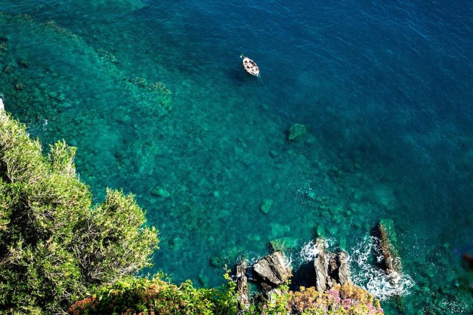
[[(460, 259), (473, 251), (471, 4), (3, 0), (0, 11), (7, 110), (43, 143), (78, 146), (97, 201), (107, 186), (136, 194), (161, 232), (150, 272), (216, 285), (223, 264), (276, 239), (306, 267), (301, 248), (322, 233), (383, 295), (362, 257), (389, 218), (412, 281), (401, 300), (383, 295), (388, 312), (471, 312)], [(243, 73), (242, 52), (262, 81)], [(293, 123), (305, 141), (286, 141)]]

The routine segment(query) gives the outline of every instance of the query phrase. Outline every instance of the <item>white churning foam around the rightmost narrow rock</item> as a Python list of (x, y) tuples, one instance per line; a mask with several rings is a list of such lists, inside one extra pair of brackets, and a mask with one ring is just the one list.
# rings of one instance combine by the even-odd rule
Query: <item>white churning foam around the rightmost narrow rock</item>
[[(402, 272), (388, 276), (384, 270), (369, 262), (373, 255), (377, 262), (383, 259), (378, 239), (372, 236), (366, 237), (351, 252), (352, 270), (355, 271), (352, 274), (353, 283), (361, 286), (366, 285), (367, 290), (380, 300), (409, 294), (409, 288), (414, 285), (412, 277)], [(401, 265), (400, 258), (395, 264)]]

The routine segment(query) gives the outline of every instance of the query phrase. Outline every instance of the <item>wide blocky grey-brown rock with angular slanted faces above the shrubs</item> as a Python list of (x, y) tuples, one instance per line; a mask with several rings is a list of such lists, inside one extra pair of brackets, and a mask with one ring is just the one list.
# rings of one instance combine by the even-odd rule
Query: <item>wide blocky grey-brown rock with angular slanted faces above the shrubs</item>
[(291, 268), (282, 252), (273, 252), (253, 265), (253, 270), (270, 285), (285, 283), (291, 277)]

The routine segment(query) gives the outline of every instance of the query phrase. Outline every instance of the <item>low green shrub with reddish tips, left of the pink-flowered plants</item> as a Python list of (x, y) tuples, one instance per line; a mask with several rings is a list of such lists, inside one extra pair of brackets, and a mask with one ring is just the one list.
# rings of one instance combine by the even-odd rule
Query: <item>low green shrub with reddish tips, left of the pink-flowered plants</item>
[(159, 278), (130, 277), (74, 303), (69, 314), (233, 315), (237, 313), (234, 289), (231, 281), (221, 289), (207, 289), (194, 288), (190, 281), (177, 286)]

